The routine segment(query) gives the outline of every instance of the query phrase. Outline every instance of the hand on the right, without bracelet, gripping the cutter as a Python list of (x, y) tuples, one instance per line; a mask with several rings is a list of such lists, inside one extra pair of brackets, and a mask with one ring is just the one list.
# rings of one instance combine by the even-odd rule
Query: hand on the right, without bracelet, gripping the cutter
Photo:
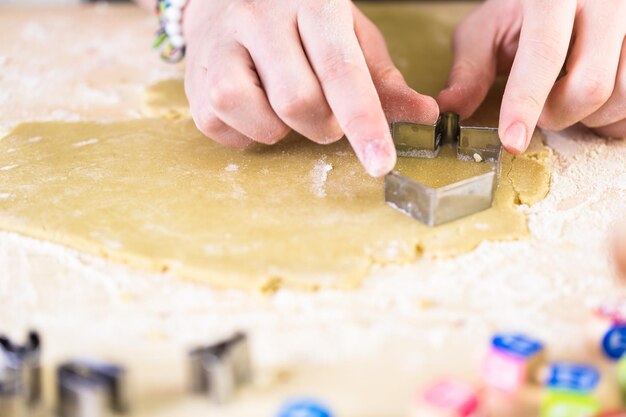
[(623, 0), (488, 0), (456, 29), (437, 101), (468, 117), (496, 75), (508, 73), (499, 132), (509, 152), (524, 152), (537, 124), (561, 130), (582, 122), (626, 136), (625, 36)]

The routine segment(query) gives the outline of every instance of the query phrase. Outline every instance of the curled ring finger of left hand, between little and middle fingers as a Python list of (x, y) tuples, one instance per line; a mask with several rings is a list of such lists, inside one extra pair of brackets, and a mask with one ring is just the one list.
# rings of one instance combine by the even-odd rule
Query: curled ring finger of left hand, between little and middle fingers
[(222, 47), (214, 51), (213, 62), (206, 68), (208, 100), (220, 120), (268, 145), (289, 133), (267, 101), (248, 51), (238, 44)]

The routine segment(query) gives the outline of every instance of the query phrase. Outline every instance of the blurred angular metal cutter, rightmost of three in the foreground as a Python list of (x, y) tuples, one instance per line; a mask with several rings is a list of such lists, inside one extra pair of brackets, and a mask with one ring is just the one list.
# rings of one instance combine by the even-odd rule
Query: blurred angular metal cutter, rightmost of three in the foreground
[(235, 391), (252, 382), (248, 338), (237, 333), (231, 338), (189, 352), (191, 391), (208, 395), (217, 404), (227, 402)]

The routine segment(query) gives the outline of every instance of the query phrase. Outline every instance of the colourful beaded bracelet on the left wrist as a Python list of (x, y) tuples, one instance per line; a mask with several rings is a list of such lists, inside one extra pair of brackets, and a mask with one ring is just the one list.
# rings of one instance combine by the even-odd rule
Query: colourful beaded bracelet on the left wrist
[(161, 58), (169, 63), (180, 62), (185, 57), (183, 38), (183, 9), (187, 0), (158, 0), (156, 14), (159, 30), (152, 47), (161, 49)]

